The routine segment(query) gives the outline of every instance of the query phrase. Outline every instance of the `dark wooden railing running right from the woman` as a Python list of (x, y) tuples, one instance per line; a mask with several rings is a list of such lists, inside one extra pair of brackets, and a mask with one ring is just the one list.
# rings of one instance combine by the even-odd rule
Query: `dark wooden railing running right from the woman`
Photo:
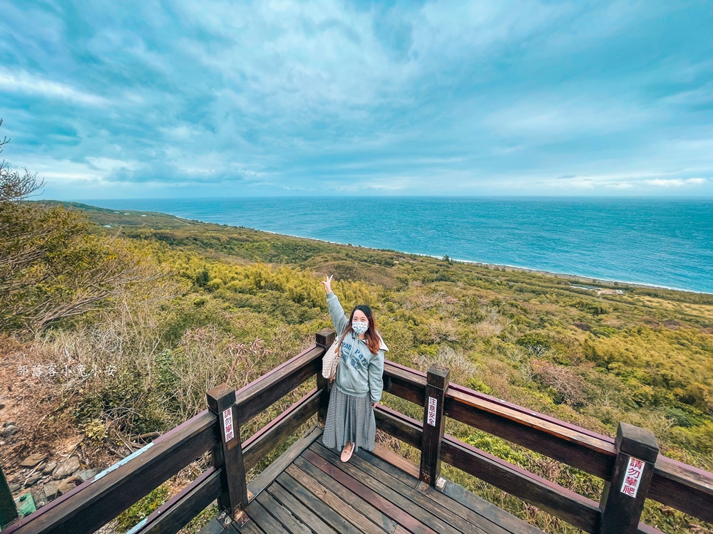
[[(384, 367), (384, 390), (424, 407), (424, 422), (377, 407), (377, 426), (421, 451), (438, 449), (439, 459), (511, 495), (531, 503), (588, 533), (657, 533), (639, 523), (646, 498), (713, 522), (713, 473), (658, 456), (654, 436), (635, 426), (620, 424), (617, 439), (602, 436), (558, 419), (532, 412), (450, 383), (443, 394), (443, 415), (581, 469), (605, 481), (599, 503), (545, 480), (443, 434), (440, 444), (424, 440), (429, 424), (427, 398), (431, 384), (440, 384), (442, 370), (418, 372), (392, 362)], [(440, 404), (436, 399), (437, 410)], [(644, 461), (636, 497), (622, 493), (630, 457)], [(428, 481), (421, 460), (421, 480)], [(433, 483), (431, 481), (431, 483)], [(626, 521), (632, 523), (627, 528)]]

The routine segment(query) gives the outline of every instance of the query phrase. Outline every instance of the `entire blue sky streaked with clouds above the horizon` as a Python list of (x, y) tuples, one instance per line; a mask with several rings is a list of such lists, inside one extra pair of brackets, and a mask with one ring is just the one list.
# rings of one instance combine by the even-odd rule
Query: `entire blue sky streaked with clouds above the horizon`
[(0, 0), (45, 198), (713, 197), (702, 1)]

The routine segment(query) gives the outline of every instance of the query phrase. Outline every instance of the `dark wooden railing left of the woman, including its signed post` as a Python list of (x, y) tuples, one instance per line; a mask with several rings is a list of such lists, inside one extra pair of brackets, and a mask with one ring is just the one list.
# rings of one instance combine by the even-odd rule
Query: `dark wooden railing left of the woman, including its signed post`
[[(317, 340), (322, 337), (318, 335)], [(225, 384), (212, 389), (207, 392), (205, 412), (2, 532), (93, 533), (207, 451), (212, 452), (213, 466), (136, 525), (131, 534), (177, 532), (216, 499), (233, 517), (240, 516), (247, 505), (245, 472), (317, 413), (322, 392), (312, 389), (242, 444), (240, 424), (321, 372), (322, 355), (324, 347), (314, 345), (237, 392)], [(227, 440), (226, 411), (232, 416), (232, 438)]]

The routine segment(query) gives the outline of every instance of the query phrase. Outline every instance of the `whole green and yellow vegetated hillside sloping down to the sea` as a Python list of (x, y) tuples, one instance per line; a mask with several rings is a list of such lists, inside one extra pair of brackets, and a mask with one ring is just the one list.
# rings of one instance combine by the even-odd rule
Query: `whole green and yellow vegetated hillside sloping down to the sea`
[[(713, 295), (591, 280), (600, 290), (588, 290), (510, 268), (24, 198), (0, 202), (2, 379), (25, 404), (34, 396), (41, 417), (25, 414), (4, 441), (4, 465), (67, 439), (87, 461), (111, 464), (141, 436), (202, 411), (207, 389), (242, 387), (330, 325), (319, 283), (329, 273), (344, 308), (374, 308), (391, 360), (439, 362), (454, 382), (603, 434), (620, 421), (643, 426), (662, 454), (713, 471)], [(421, 417), (388, 394), (384, 403)], [(601, 491), (596, 478), (481, 431), (446, 431), (591, 498)], [(540, 528), (575, 532), (445, 473)], [(169, 494), (152, 493), (122, 528)], [(710, 528), (655, 504), (644, 520), (670, 533)]]

